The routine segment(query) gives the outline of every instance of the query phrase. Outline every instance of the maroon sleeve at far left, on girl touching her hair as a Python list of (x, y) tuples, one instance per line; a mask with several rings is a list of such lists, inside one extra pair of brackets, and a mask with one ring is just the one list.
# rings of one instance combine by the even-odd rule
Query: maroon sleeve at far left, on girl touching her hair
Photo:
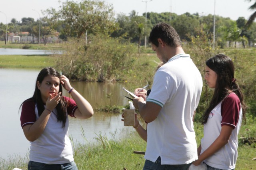
[(20, 115), (20, 125), (23, 128), (26, 125), (32, 125), (36, 121), (35, 113), (36, 103), (33, 101), (26, 101), (22, 105)]

